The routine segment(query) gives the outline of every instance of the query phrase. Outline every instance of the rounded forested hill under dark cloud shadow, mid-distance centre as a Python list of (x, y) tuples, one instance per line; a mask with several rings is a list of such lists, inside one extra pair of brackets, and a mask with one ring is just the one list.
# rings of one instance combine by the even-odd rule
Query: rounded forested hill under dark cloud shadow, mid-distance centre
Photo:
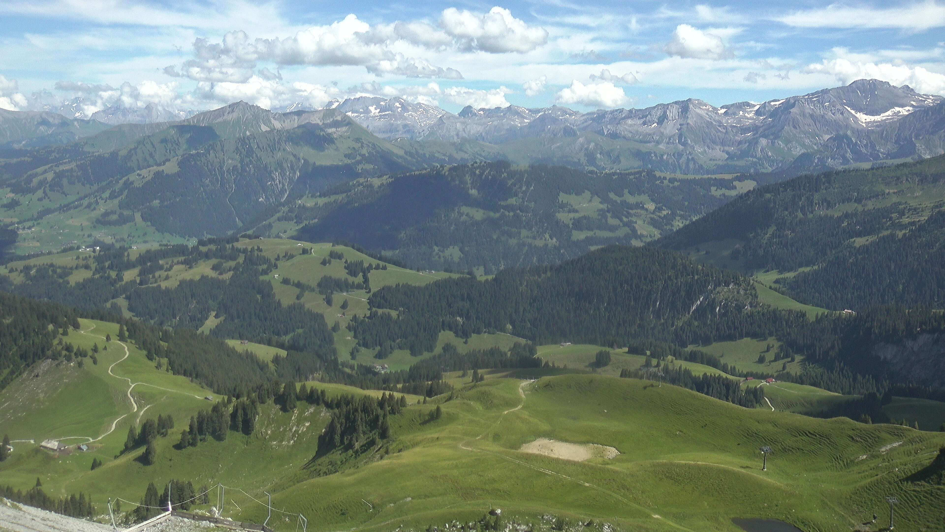
[(338, 186), (276, 222), (304, 224), (301, 239), (342, 239), (427, 268), (492, 274), (654, 239), (752, 179), (760, 178), (478, 163)]

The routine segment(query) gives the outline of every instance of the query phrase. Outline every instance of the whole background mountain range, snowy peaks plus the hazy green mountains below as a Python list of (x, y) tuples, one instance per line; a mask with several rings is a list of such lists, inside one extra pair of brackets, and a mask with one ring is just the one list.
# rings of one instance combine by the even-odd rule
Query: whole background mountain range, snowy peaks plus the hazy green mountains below
[[(400, 98), (285, 113), (236, 102), (112, 127), (3, 112), (0, 219), (20, 253), (251, 230), (494, 272), (642, 244), (794, 173), (934, 156), (943, 114), (942, 98), (876, 80), (761, 104), (585, 114), (452, 115)], [(416, 212), (378, 218), (404, 205)]]

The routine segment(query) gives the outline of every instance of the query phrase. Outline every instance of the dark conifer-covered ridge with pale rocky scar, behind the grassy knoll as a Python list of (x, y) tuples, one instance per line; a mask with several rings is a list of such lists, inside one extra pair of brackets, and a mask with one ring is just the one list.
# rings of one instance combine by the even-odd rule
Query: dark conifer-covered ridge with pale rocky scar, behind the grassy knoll
[[(484, 281), (385, 287), (370, 303), (397, 315), (374, 311), (349, 327), (359, 345), (381, 352), (431, 350), (441, 330), (460, 338), (501, 331), (539, 345), (631, 346), (660, 359), (685, 359), (685, 346), (771, 338), (782, 343), (771, 354), (775, 362), (805, 357), (805, 370), (779, 377), (785, 380), (858, 394), (882, 391), (887, 381), (945, 385), (934, 362), (940, 347), (913, 346), (922, 335), (938, 338), (945, 331), (938, 312), (886, 307), (811, 321), (798, 310), (762, 303), (743, 275), (652, 247), (608, 246), (558, 266), (508, 269)], [(693, 360), (722, 367), (711, 359)]]

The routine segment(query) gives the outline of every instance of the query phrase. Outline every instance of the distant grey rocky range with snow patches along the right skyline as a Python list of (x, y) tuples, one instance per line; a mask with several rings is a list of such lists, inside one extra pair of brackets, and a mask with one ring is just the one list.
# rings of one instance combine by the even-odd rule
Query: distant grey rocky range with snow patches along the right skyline
[(845, 87), (722, 107), (699, 99), (577, 113), (553, 106), (466, 107), (458, 115), (402, 98), (352, 98), (338, 109), (382, 137), (476, 140), (509, 159), (598, 169), (790, 174), (945, 151), (943, 98), (857, 80)]

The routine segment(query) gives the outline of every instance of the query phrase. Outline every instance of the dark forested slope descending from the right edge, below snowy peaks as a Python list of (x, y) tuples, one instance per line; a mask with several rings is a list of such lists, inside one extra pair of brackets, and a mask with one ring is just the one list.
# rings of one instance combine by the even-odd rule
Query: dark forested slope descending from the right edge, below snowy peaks
[(762, 186), (655, 245), (774, 279), (776, 288), (828, 309), (941, 307), (943, 208), (939, 156)]

